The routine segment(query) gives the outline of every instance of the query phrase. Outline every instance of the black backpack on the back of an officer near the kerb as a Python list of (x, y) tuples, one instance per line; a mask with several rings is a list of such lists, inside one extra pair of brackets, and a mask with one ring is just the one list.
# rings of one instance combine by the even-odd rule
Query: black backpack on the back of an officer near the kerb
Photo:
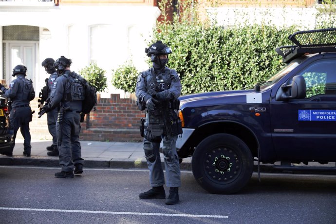
[[(80, 75), (76, 74), (75, 72), (72, 72), (71, 74), (69, 74), (71, 77), (73, 78), (69, 78), (68, 75), (65, 75), (65, 77), (68, 79), (68, 81), (71, 84), (71, 89), (72, 92), (74, 92), (75, 90), (77, 90), (78, 88), (82, 88), (83, 92), (84, 92), (84, 96), (78, 96), (80, 99), (82, 100), (82, 113), (83, 114), (87, 114), (89, 112), (91, 112), (91, 110), (93, 109), (93, 111), (96, 110), (95, 106), (97, 105), (97, 91), (96, 89), (91, 86), (85, 78), (81, 77)], [(80, 86), (78, 86), (80, 85)], [(74, 90), (74, 91), (73, 91)], [(75, 91), (77, 92), (77, 91)], [(69, 96), (71, 97), (71, 96)], [(76, 97), (76, 94), (74, 94), (74, 96), (72, 96), (72, 98)], [(70, 98), (70, 99), (72, 99)], [(81, 99), (84, 98), (84, 99)], [(76, 100), (76, 99), (72, 99), (72, 100)]]

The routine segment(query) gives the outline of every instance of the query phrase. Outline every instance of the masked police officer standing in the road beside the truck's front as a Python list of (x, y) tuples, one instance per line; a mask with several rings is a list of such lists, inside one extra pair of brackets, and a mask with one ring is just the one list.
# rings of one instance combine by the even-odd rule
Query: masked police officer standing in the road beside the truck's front
[(140, 193), (140, 199), (166, 198), (163, 185), (165, 177), (160, 159), (160, 143), (163, 155), (169, 196), (167, 205), (179, 202), (178, 187), (181, 186), (179, 158), (176, 140), (182, 133), (181, 123), (176, 114), (179, 108), (181, 81), (177, 72), (166, 67), (171, 49), (157, 41), (145, 49), (153, 67), (140, 73), (136, 83), (136, 97), (140, 110), (146, 110), (144, 122), (144, 151), (149, 168), (151, 189)]

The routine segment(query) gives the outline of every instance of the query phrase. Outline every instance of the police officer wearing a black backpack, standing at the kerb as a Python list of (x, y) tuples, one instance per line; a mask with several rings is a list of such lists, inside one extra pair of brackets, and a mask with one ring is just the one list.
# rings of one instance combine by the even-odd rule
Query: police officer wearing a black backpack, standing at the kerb
[(64, 56), (58, 58), (54, 67), (58, 77), (54, 82), (50, 101), (42, 110), (50, 112), (58, 110), (56, 131), (61, 172), (55, 173), (57, 178), (74, 178), (83, 172), (84, 160), (81, 158), (79, 142), (80, 112), (84, 100), (83, 86), (79, 83), (82, 77), (70, 71), (72, 61)]

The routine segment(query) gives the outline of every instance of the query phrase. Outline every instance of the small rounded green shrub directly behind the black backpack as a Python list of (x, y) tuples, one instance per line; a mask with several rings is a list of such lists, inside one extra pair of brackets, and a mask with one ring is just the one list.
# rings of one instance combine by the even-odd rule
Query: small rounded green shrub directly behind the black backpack
[(106, 71), (99, 68), (95, 63), (91, 63), (79, 71), (79, 74), (82, 75), (90, 85), (96, 88), (97, 92), (104, 92), (107, 88), (105, 73)]

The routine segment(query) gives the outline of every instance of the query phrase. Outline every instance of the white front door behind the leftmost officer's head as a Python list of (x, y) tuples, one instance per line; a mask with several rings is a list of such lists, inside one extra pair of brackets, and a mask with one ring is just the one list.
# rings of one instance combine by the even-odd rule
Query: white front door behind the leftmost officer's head
[[(8, 45), (8, 66), (7, 66), (7, 75), (6, 82), (10, 83), (12, 79), (15, 77), (12, 76), (13, 68), (19, 64), (23, 64), (27, 67), (27, 79), (32, 79), (34, 88), (36, 89), (35, 83), (35, 73), (36, 73), (36, 61), (37, 61), (37, 43), (32, 43), (29, 41), (28, 43), (23, 41), (18, 42), (10, 42)], [(7, 80), (8, 79), (8, 80)]]

